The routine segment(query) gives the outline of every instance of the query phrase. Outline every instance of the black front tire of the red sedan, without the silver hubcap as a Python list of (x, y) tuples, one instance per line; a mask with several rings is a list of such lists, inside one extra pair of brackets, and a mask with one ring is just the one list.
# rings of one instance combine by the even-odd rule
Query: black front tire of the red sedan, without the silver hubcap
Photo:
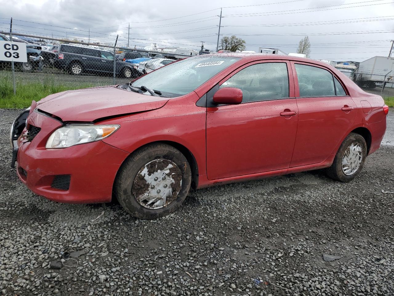
[[(177, 166), (175, 169), (179, 171), (178, 175), (180, 176), (182, 174), (181, 182), (178, 182), (180, 188), (178, 187), (176, 190), (172, 189), (174, 192), (178, 191), (178, 194), (175, 195), (175, 193), (171, 193), (173, 194), (173, 196), (169, 198), (171, 201), (162, 208), (148, 208), (137, 200), (136, 195), (138, 195), (138, 193), (136, 193), (136, 191), (144, 190), (144, 192), (146, 192), (149, 190), (149, 186), (148, 189), (142, 188), (149, 183), (144, 181), (145, 184), (140, 185), (136, 177), (137, 175), (141, 176), (141, 170), (150, 162), (161, 161), (162, 159), (175, 163)], [(157, 170), (156, 166), (155, 173), (157, 172), (160, 172), (160, 170)], [(148, 176), (152, 175), (149, 175), (149, 173), (147, 174)], [(173, 174), (167, 176), (172, 175)], [(137, 182), (135, 182), (136, 180)], [(121, 206), (134, 217), (141, 219), (156, 219), (168, 215), (179, 208), (189, 193), (190, 184), (191, 170), (186, 157), (173, 146), (167, 144), (151, 144), (137, 150), (126, 159), (117, 174), (114, 184), (114, 193)], [(171, 192), (173, 192), (172, 190)]]

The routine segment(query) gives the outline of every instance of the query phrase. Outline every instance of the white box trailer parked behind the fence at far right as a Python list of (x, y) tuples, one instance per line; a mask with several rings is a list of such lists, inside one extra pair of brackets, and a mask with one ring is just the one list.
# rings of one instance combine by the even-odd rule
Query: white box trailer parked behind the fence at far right
[(394, 58), (375, 56), (361, 62), (355, 71), (354, 81), (359, 86), (375, 88), (383, 82), (394, 82)]

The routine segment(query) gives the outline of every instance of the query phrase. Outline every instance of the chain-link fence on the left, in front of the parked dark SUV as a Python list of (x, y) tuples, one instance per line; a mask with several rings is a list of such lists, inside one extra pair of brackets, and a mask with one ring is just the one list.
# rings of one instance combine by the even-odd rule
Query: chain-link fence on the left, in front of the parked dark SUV
[[(46, 40), (48, 43), (26, 44), (28, 61), (15, 62), (17, 92), (29, 83), (61, 85), (69, 89), (121, 84), (199, 53), (179, 48), (151, 51), (80, 41), (59, 42), (59, 39), (47, 37)], [(19, 39), (18, 42), (24, 41)], [(10, 79), (11, 63), (0, 61), (0, 81)]]

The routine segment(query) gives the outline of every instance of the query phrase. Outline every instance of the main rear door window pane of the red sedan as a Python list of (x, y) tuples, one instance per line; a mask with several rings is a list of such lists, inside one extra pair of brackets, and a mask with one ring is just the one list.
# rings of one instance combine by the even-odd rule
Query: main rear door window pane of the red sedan
[(329, 71), (301, 64), (295, 67), (300, 97), (335, 96), (333, 75)]

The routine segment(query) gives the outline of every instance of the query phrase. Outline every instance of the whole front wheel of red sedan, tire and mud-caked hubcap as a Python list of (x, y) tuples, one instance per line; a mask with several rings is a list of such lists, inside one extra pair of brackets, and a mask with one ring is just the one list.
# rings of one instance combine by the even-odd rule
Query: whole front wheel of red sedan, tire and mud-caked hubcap
[(186, 157), (167, 144), (152, 144), (123, 163), (114, 191), (134, 217), (155, 219), (174, 212), (188, 195), (191, 170)]

